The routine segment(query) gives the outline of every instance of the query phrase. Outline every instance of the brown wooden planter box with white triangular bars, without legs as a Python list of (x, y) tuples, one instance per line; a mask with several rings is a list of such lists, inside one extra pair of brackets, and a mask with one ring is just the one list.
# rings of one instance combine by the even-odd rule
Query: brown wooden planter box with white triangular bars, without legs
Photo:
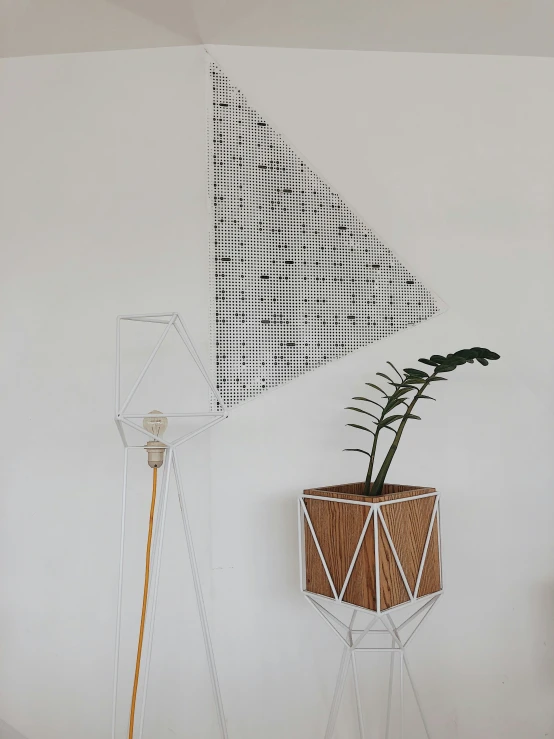
[(303, 590), (375, 613), (440, 592), (435, 488), (385, 485), (373, 498), (363, 487), (304, 491)]

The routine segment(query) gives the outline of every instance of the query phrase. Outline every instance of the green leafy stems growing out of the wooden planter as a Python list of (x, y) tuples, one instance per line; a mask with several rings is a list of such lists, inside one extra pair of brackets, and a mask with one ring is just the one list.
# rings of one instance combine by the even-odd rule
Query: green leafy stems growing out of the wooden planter
[[(346, 410), (356, 411), (357, 413), (363, 413), (366, 416), (370, 416), (373, 419), (372, 423), (375, 428), (372, 430), (367, 428), (367, 426), (362, 426), (358, 423), (348, 423), (347, 426), (352, 426), (355, 429), (360, 429), (361, 431), (372, 434), (373, 444), (371, 446), (371, 451), (367, 452), (365, 449), (344, 450), (346, 452), (361, 452), (369, 457), (369, 467), (365, 481), (364, 495), (383, 495), (385, 478), (398, 449), (398, 444), (400, 443), (406, 424), (409, 420), (421, 420), (419, 416), (416, 416), (413, 413), (416, 403), (420, 400), (435, 400), (435, 398), (432, 398), (430, 395), (425, 395), (427, 388), (434, 382), (446, 380), (446, 377), (441, 376), (445, 372), (452, 372), (464, 364), (473, 364), (475, 361), (486, 367), (491, 360), (495, 359), (500, 359), (500, 355), (496, 354), (496, 352), (491, 352), (489, 349), (475, 346), (472, 349), (460, 349), (460, 351), (454, 352), (454, 354), (447, 354), (446, 357), (443, 357), (440, 354), (433, 354), (429, 359), (419, 359), (418, 361), (422, 364), (433, 367), (433, 371), (430, 374), (420, 369), (413, 369), (412, 367), (408, 367), (407, 369), (404, 369), (403, 372), (399, 372), (392, 362), (387, 362), (387, 364), (389, 364), (398, 375), (398, 379), (392, 379), (384, 372), (377, 372), (377, 375), (384, 378), (390, 386), (387, 388), (388, 392), (379, 387), (379, 385), (375, 385), (372, 382), (366, 382), (366, 385), (381, 393), (381, 402), (360, 396), (352, 398), (352, 400), (361, 400), (365, 403), (370, 403), (372, 406), (380, 408), (380, 412), (375, 410), (375, 413), (371, 413), (368, 410), (355, 408), (353, 406), (348, 406)], [(394, 439), (372, 484), (377, 445), (381, 431), (385, 429), (394, 433)]]

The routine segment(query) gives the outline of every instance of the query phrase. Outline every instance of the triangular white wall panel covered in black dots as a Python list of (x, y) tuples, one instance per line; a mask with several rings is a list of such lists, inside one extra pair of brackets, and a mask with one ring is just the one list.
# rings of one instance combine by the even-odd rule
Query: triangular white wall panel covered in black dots
[(439, 307), (216, 64), (209, 73), (212, 358), (232, 407)]

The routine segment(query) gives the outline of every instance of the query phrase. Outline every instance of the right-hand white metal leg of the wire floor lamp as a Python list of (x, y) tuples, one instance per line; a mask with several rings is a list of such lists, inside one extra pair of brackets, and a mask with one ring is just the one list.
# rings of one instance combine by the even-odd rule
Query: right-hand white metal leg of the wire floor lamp
[(187, 544), (187, 550), (189, 555), (190, 569), (192, 572), (192, 580), (194, 583), (194, 591), (196, 594), (196, 604), (198, 606), (198, 615), (200, 616), (200, 624), (202, 626), (202, 636), (204, 637), (204, 647), (206, 649), (206, 657), (208, 659), (208, 668), (210, 672), (210, 679), (212, 682), (212, 690), (214, 694), (217, 717), (219, 719), (219, 728), (221, 730), (221, 736), (223, 739), (228, 739), (229, 734), (227, 731), (227, 719), (225, 718), (225, 710), (223, 707), (223, 698), (221, 696), (221, 688), (219, 686), (219, 678), (217, 675), (217, 665), (215, 661), (214, 650), (212, 646), (212, 639), (210, 635), (210, 625), (208, 622), (208, 616), (206, 613), (206, 605), (204, 602), (204, 595), (202, 593), (202, 583), (200, 581), (200, 573), (198, 571), (198, 563), (196, 561), (196, 554), (194, 551), (194, 541), (192, 538), (192, 531), (190, 529), (190, 523), (187, 513), (186, 501), (184, 496), (184, 488), (181, 480), (181, 471), (179, 469), (179, 463), (177, 458), (173, 456), (173, 470), (175, 473), (175, 481), (177, 483), (177, 497), (179, 499), (179, 507), (181, 509), (181, 517), (183, 519), (183, 528), (185, 530), (185, 540)]

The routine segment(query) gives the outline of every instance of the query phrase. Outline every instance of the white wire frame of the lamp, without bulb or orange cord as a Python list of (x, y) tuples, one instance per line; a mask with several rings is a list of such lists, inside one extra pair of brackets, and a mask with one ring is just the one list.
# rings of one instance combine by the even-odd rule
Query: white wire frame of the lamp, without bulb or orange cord
[[(165, 324), (165, 328), (158, 339), (157, 343), (152, 349), (146, 363), (142, 370), (139, 372), (138, 377), (133, 384), (131, 390), (127, 396), (122, 399), (121, 397), (121, 324), (122, 322), (133, 321), (142, 323), (158, 323)], [(207, 390), (211, 393), (212, 400), (215, 401), (211, 407), (215, 407), (216, 410), (210, 411), (172, 411), (169, 412), (164, 410), (163, 415), (169, 419), (205, 419), (198, 428), (182, 434), (173, 441), (162, 439), (150, 431), (139, 425), (137, 421), (142, 421), (145, 418), (152, 417), (153, 415), (159, 415), (159, 413), (130, 413), (127, 409), (135, 397), (141, 383), (143, 382), (148, 369), (150, 368), (155, 357), (158, 355), (160, 348), (164, 341), (170, 335), (170, 332), (175, 332), (179, 339), (183, 342), (186, 351), (190, 355), (198, 371), (200, 372), (203, 381), (206, 383)], [(189, 563), (192, 572), (192, 580), (194, 584), (194, 592), (196, 596), (196, 603), (198, 607), (198, 615), (200, 618), (200, 624), (202, 627), (202, 636), (204, 640), (204, 647), (206, 651), (206, 658), (208, 663), (210, 681), (213, 691), (213, 697), (218, 718), (219, 733), (222, 739), (228, 739), (227, 721), (225, 717), (225, 711), (223, 707), (223, 699), (221, 695), (221, 689), (219, 684), (219, 677), (217, 672), (217, 665), (214, 655), (214, 649), (212, 644), (212, 638), (210, 634), (210, 626), (208, 622), (208, 616), (206, 612), (206, 604), (202, 591), (202, 584), (198, 569), (198, 562), (194, 550), (194, 542), (190, 527), (189, 515), (187, 512), (187, 505), (184, 495), (183, 478), (181, 470), (179, 468), (179, 462), (176, 456), (176, 450), (190, 441), (192, 438), (201, 434), (208, 429), (212, 428), (216, 424), (220, 423), (227, 417), (227, 410), (221, 399), (221, 396), (217, 390), (217, 387), (212, 381), (210, 374), (206, 370), (191, 338), (186, 329), (185, 323), (178, 313), (150, 313), (145, 315), (124, 315), (118, 316), (117, 318), (117, 330), (116, 330), (116, 380), (115, 380), (115, 423), (121, 436), (121, 440), (124, 446), (124, 458), (123, 458), (123, 486), (122, 486), (122, 501), (121, 501), (121, 537), (120, 537), (120, 559), (119, 559), (119, 587), (118, 587), (118, 599), (117, 599), (117, 619), (116, 619), (116, 640), (115, 640), (115, 655), (114, 655), (114, 679), (113, 679), (113, 700), (112, 700), (112, 739), (117, 739), (117, 710), (118, 710), (118, 686), (119, 686), (119, 667), (120, 667), (120, 648), (121, 648), (121, 616), (122, 616), (122, 596), (123, 596), (123, 575), (124, 575), (124, 553), (125, 553), (125, 528), (126, 528), (126, 512), (127, 512), (127, 488), (128, 488), (128, 469), (129, 469), (129, 450), (131, 449), (144, 449), (144, 444), (132, 444), (129, 442), (128, 434), (126, 431), (132, 429), (134, 432), (139, 432), (147, 437), (148, 440), (161, 442), (165, 446), (165, 462), (162, 467), (162, 479), (160, 485), (160, 496), (158, 504), (156, 506), (157, 512), (154, 523), (154, 535), (153, 535), (153, 546), (152, 546), (152, 557), (151, 557), (151, 579), (150, 579), (150, 592), (151, 596), (148, 600), (148, 617), (147, 617), (147, 633), (145, 639), (145, 662), (144, 670), (142, 673), (142, 694), (140, 700), (140, 718), (138, 722), (138, 731), (136, 732), (137, 739), (142, 739), (144, 731), (144, 719), (148, 697), (148, 683), (150, 675), (150, 664), (152, 657), (152, 645), (154, 638), (154, 627), (156, 621), (156, 608), (158, 601), (158, 586), (160, 580), (160, 570), (162, 561), (162, 550), (165, 534), (166, 524), (166, 512), (167, 512), (167, 499), (170, 478), (173, 476), (175, 486), (177, 489), (177, 496), (179, 501), (179, 508), (181, 511), (181, 518), (183, 523), (183, 529), (185, 534), (185, 540), (187, 545), (187, 552)]]

